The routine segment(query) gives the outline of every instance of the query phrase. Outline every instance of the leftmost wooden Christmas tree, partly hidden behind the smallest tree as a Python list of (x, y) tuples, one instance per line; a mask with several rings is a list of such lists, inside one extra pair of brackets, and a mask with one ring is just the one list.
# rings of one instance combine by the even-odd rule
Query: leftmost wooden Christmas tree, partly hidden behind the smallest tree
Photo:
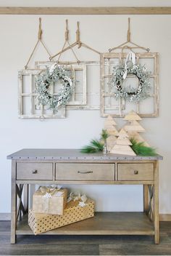
[(117, 124), (112, 116), (108, 116), (106, 121), (104, 122), (104, 129), (106, 129), (109, 134), (109, 137), (107, 138), (107, 151), (109, 152), (111, 151), (117, 140), (116, 136), (118, 136), (118, 132), (115, 128), (116, 125)]

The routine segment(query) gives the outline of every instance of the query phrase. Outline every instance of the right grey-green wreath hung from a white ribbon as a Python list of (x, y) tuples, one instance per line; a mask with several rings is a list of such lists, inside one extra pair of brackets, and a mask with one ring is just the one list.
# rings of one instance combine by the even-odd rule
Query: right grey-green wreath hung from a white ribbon
[[(138, 88), (131, 86), (122, 87), (123, 81), (128, 74), (135, 75), (138, 80)], [(116, 65), (113, 68), (111, 84), (114, 87), (114, 96), (128, 99), (129, 101), (138, 102), (149, 97), (150, 73), (145, 65), (135, 64), (135, 53), (129, 52), (125, 60), (125, 65)]]

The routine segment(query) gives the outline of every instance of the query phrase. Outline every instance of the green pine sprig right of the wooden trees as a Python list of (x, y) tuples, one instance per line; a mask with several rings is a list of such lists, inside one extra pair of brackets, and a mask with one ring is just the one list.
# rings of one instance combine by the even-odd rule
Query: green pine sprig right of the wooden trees
[(143, 142), (138, 143), (133, 137), (130, 138), (130, 142), (133, 144), (130, 147), (138, 156), (156, 156), (157, 152), (155, 148), (146, 147)]

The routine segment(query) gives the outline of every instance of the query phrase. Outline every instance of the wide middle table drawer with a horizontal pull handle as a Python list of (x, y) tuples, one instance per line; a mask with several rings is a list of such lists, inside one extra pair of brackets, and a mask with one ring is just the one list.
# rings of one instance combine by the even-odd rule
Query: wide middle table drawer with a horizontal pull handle
[(56, 180), (114, 180), (114, 164), (56, 164)]

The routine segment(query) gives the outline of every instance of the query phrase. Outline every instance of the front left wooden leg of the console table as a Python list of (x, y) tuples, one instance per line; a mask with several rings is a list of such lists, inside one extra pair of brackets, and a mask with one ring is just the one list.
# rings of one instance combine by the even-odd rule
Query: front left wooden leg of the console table
[(16, 161), (12, 160), (12, 204), (11, 204), (11, 244), (16, 241), (17, 226), (17, 192), (16, 192)]

